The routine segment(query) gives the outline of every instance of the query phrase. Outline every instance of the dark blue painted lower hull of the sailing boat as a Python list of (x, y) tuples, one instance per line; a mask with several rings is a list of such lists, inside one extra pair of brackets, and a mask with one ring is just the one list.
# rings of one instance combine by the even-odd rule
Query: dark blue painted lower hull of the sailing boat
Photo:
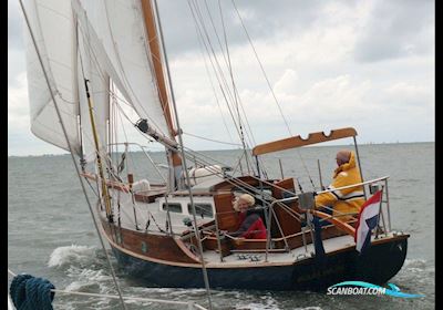
[[(111, 245), (112, 246), (112, 245)], [(204, 288), (202, 268), (153, 262), (112, 247), (119, 264), (147, 287)], [(346, 280), (383, 285), (403, 266), (408, 237), (373, 245), (359, 256), (353, 247), (290, 266), (207, 268), (212, 288), (255, 290), (324, 290)]]

